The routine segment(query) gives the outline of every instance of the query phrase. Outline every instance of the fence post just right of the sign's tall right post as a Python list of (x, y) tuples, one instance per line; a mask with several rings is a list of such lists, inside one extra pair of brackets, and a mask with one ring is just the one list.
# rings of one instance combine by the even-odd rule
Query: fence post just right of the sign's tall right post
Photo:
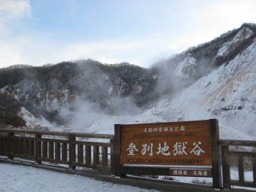
[(221, 146), (223, 188), (230, 190), (230, 156), (229, 146)]

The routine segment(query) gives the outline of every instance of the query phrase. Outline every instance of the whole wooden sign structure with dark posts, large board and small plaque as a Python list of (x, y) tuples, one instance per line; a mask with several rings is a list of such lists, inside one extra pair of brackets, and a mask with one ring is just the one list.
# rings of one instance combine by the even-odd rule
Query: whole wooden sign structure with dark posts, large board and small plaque
[(214, 187), (221, 187), (218, 120), (115, 125), (114, 132), (116, 176), (177, 171), (212, 177)]

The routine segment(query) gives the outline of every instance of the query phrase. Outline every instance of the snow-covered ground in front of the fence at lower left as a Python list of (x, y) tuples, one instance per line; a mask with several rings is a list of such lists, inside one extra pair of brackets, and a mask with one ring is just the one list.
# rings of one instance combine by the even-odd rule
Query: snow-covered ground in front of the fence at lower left
[(139, 187), (96, 181), (78, 175), (0, 163), (0, 191), (154, 192), (157, 190), (146, 190)]

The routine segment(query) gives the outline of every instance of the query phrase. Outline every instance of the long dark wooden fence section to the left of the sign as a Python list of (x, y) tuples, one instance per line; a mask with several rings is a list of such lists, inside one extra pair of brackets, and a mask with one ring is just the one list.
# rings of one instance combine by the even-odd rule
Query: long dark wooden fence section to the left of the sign
[(79, 166), (110, 172), (114, 162), (114, 136), (0, 129), (0, 155), (35, 160), (38, 164), (64, 164), (70, 169)]

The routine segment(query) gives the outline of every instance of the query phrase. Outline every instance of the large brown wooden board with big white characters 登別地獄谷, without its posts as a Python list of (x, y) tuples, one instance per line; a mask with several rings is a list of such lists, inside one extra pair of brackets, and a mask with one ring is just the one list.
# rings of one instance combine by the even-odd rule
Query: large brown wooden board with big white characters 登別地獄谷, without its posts
[(212, 166), (209, 120), (122, 125), (120, 164)]

